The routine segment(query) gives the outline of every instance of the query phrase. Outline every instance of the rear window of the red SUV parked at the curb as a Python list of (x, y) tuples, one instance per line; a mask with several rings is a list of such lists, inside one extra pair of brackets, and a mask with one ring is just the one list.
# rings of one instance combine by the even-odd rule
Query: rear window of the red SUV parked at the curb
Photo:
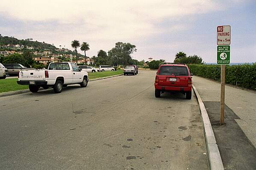
[(161, 66), (158, 75), (184, 75), (188, 76), (188, 69), (184, 66)]

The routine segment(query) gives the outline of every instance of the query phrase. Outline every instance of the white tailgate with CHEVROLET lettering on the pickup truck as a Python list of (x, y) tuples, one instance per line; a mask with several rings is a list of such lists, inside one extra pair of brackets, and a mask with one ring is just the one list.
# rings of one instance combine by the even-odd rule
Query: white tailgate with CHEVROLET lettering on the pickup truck
[(45, 81), (44, 70), (23, 70), (19, 72), (19, 81)]

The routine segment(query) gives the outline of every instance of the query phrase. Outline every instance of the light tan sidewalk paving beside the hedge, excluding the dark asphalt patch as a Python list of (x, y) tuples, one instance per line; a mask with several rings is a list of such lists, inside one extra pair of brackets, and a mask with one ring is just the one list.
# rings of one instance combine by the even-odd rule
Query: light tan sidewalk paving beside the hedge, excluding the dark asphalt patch
[[(197, 76), (192, 81), (204, 102), (220, 101), (220, 83)], [(226, 85), (225, 104), (239, 116), (236, 122), (256, 147), (256, 92)]]

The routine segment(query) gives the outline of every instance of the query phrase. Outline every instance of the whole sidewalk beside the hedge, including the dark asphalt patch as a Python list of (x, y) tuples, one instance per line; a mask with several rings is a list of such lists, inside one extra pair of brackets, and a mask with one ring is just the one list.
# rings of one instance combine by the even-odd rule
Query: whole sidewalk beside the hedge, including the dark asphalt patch
[(256, 168), (256, 92), (225, 86), (225, 124), (219, 124), (220, 83), (193, 76), (207, 109), (225, 170)]

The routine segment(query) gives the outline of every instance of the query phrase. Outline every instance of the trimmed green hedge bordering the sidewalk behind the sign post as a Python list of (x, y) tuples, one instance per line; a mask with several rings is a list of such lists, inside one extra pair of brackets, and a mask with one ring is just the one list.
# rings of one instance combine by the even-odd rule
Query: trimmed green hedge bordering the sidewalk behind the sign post
[[(220, 65), (189, 64), (188, 66), (190, 72), (194, 75), (210, 78), (216, 81), (220, 81), (221, 79)], [(225, 82), (227, 84), (256, 90), (256, 63), (253, 63), (253, 65), (243, 64), (226, 66)]]

